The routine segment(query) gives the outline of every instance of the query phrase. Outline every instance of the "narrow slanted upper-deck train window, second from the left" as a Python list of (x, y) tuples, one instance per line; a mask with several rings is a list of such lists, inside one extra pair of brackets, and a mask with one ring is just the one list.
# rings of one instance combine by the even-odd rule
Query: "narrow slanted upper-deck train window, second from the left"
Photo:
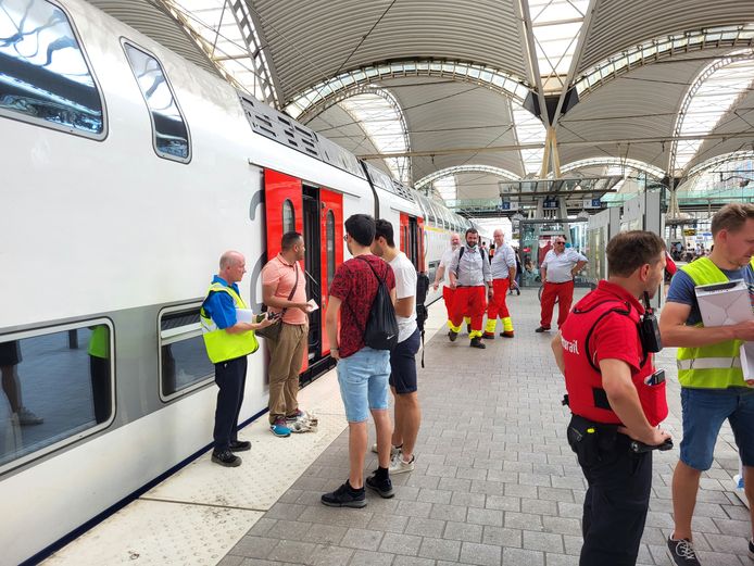
[(188, 163), (191, 159), (188, 128), (162, 65), (128, 42), (123, 48), (149, 109), (154, 151), (161, 158)]

